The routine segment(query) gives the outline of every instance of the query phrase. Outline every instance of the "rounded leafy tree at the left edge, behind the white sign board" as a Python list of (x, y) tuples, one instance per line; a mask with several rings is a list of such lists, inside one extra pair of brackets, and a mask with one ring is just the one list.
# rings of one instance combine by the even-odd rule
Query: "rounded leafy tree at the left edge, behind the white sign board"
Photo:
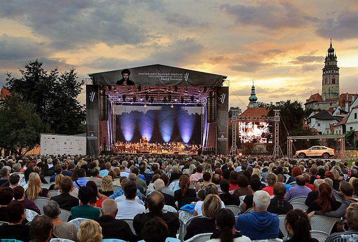
[(5, 155), (25, 154), (39, 145), (40, 133), (48, 131), (30, 102), (21, 101), (17, 95), (5, 98), (0, 108), (0, 147)]

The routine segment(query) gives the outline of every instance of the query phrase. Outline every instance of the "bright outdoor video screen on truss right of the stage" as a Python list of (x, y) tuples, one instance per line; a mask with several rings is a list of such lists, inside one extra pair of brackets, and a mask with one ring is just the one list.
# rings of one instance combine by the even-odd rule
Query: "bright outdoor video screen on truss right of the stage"
[(272, 125), (268, 122), (239, 122), (240, 143), (272, 143)]

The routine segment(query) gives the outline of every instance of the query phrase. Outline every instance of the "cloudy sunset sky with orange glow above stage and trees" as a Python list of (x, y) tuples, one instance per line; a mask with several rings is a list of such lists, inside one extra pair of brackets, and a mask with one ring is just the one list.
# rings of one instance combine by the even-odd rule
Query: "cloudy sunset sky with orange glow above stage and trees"
[[(161, 63), (222, 74), (230, 106), (321, 92), (332, 36), (341, 92), (358, 91), (357, 0), (1, 0), (0, 85), (38, 58), (88, 73)], [(84, 96), (81, 97), (84, 100)]]

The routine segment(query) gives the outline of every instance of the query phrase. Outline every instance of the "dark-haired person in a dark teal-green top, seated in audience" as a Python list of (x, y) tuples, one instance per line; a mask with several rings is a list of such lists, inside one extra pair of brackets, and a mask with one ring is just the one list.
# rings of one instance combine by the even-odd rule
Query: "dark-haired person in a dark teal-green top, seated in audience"
[(90, 206), (90, 200), (93, 197), (93, 190), (90, 186), (83, 186), (78, 190), (78, 198), (82, 205), (71, 209), (72, 218), (97, 219), (100, 216), (100, 210)]

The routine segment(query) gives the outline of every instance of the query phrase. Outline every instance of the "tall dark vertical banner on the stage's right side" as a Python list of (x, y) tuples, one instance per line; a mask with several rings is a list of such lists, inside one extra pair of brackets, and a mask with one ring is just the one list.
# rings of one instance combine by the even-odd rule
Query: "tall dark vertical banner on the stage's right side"
[(216, 89), (216, 153), (229, 151), (229, 87)]

